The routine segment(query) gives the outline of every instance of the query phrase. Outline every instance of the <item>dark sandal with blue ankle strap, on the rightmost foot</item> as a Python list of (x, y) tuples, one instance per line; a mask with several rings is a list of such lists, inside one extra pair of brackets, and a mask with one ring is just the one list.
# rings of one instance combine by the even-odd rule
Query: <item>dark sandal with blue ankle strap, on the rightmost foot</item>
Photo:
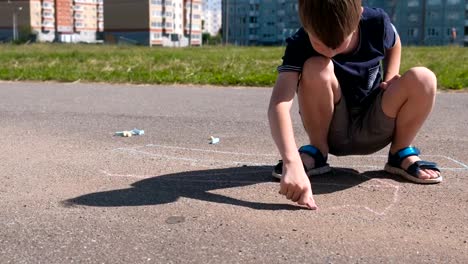
[(429, 162), (424, 160), (419, 160), (411, 164), (406, 170), (401, 167), (402, 161), (409, 157), (409, 156), (419, 156), (420, 151), (415, 147), (406, 147), (400, 149), (395, 154), (388, 154), (388, 162), (385, 164), (384, 170), (392, 173), (397, 174), (405, 179), (416, 182), (416, 183), (439, 183), (442, 182), (442, 176), (434, 179), (421, 179), (418, 177), (419, 171), (422, 169), (425, 170), (433, 170), (440, 172), (437, 164), (435, 162)]

